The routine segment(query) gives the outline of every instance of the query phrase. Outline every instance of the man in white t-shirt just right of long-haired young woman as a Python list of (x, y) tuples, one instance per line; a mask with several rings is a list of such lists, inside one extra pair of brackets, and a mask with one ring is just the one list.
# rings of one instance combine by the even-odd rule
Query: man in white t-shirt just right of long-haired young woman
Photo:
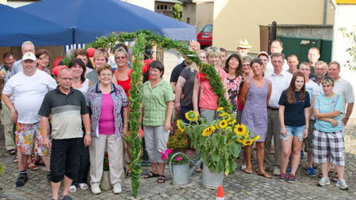
[(308, 137), (304, 140), (304, 151), (308, 153), (308, 167), (306, 170), (310, 177), (316, 177), (313, 168), (313, 129), (315, 123), (315, 117), (313, 116), (314, 101), (317, 95), (320, 94), (320, 87), (314, 81), (309, 79), (310, 76), (310, 64), (307, 62), (300, 63), (299, 71), (303, 73), (305, 78), (305, 90), (308, 91), (310, 97), (310, 122), (308, 129)]

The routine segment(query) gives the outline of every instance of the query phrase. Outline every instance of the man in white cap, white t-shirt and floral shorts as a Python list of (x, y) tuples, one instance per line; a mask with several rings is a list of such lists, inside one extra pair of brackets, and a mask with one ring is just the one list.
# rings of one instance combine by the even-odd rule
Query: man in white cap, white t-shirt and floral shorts
[[(16, 123), (20, 171), (16, 187), (22, 187), (28, 179), (27, 160), (33, 148), (36, 155), (42, 156), (49, 173), (50, 149), (42, 145), (38, 111), (47, 92), (57, 87), (56, 81), (50, 75), (37, 70), (35, 54), (30, 52), (23, 54), (21, 65), (22, 71), (7, 81), (1, 95), (2, 101), (10, 109), (12, 121)], [(14, 97), (14, 104), (10, 96)]]

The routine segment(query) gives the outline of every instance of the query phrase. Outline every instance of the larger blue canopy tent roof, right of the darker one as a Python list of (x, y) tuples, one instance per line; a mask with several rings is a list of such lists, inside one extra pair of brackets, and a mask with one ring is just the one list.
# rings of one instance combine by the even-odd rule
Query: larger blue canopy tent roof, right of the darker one
[(137, 30), (150, 30), (173, 40), (196, 38), (194, 26), (120, 0), (42, 0), (18, 9), (70, 28), (72, 44)]

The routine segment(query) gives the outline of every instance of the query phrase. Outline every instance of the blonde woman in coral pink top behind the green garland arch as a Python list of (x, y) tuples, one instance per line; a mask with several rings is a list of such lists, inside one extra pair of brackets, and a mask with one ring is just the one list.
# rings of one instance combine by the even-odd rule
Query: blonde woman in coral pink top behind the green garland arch
[[(229, 99), (226, 86), (226, 72), (219, 67), (219, 61), (221, 59), (221, 52), (219, 48), (208, 47), (206, 50), (206, 58), (209, 64), (213, 64), (215, 70), (219, 73), (221, 83), (225, 89), (225, 98)], [(204, 119), (208, 120), (208, 123), (218, 118), (216, 109), (218, 109), (218, 96), (214, 94), (213, 88), (210, 85), (209, 79), (204, 78), (204, 74), (197, 73), (194, 81), (193, 89), (193, 107), (194, 111), (201, 115)], [(199, 102), (198, 102), (199, 95)], [(200, 108), (200, 110), (199, 110)]]

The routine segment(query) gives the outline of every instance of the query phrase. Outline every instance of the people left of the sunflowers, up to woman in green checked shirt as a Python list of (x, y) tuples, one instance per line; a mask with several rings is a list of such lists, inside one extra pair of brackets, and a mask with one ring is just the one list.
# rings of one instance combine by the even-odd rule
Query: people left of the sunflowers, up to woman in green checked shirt
[[(30, 41), (21, 48), (20, 60), (15, 62), (14, 54), (8, 52), (1, 66), (1, 122), (6, 150), (17, 152), (14, 162), (19, 163), (19, 177), (15, 185), (25, 185), (27, 169), (37, 170), (43, 162), (52, 199), (58, 199), (61, 181), (63, 199), (71, 199), (68, 192), (75, 192), (77, 186), (87, 190), (88, 172), (91, 191), (99, 194), (107, 152), (113, 192), (121, 193), (125, 175), (130, 175), (124, 159), (130, 151), (123, 140), (129, 133), (132, 69), (128, 50), (117, 47), (117, 69), (113, 70), (105, 49), (96, 49), (92, 63), (95, 68), (90, 68), (85, 49), (76, 49), (68, 66), (58, 65), (49, 74), (47, 50), (35, 51)], [(157, 172), (157, 182), (164, 183), (165, 166), (159, 150), (165, 149), (168, 141), (174, 95), (169, 83), (162, 79), (163, 64), (153, 61), (150, 54), (146, 57), (144, 73), (150, 80), (143, 84), (142, 125), (153, 175)], [(157, 135), (165, 137), (156, 142)]]

